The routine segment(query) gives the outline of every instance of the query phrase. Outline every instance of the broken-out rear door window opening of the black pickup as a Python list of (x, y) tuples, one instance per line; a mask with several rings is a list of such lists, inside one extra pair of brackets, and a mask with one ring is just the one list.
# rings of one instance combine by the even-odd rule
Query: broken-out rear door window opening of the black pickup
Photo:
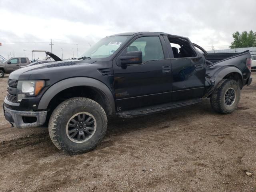
[(182, 38), (169, 38), (174, 58), (195, 57), (196, 54), (189, 42)]

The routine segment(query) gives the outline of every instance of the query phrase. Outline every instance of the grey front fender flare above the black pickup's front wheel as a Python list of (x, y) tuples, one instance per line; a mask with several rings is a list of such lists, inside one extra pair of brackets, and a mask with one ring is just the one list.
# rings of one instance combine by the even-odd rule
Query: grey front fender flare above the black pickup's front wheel
[(62, 80), (53, 86), (51, 86), (46, 92), (43, 94), (39, 104), (38, 109), (46, 109), (48, 107), (48, 104), (52, 100), (52, 98), (61, 92), (62, 90), (65, 90), (67, 88), (75, 87), (75, 86), (90, 86), (99, 89), (102, 91), (106, 97), (108, 98), (112, 114), (115, 112), (115, 102), (114, 97), (110, 89), (99, 80), (88, 78), (88, 77), (75, 77), (75, 78), (68, 78), (65, 80)]

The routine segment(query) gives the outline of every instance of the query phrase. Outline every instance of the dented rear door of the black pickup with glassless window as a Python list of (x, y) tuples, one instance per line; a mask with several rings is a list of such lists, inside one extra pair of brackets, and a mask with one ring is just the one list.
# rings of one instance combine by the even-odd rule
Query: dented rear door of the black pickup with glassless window
[(204, 56), (184, 38), (168, 38), (172, 65), (172, 101), (201, 98), (204, 95), (206, 64)]

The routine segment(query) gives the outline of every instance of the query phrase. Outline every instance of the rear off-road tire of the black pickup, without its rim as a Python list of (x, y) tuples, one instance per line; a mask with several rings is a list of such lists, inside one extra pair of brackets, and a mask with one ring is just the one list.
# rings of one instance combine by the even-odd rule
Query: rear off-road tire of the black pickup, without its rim
[[(225, 104), (225, 94), (228, 89), (234, 89), (235, 91), (235, 100), (231, 106)], [(222, 114), (232, 113), (238, 106), (240, 100), (240, 86), (238, 82), (232, 79), (222, 79), (217, 87), (215, 88), (212, 96), (210, 98), (212, 108)]]

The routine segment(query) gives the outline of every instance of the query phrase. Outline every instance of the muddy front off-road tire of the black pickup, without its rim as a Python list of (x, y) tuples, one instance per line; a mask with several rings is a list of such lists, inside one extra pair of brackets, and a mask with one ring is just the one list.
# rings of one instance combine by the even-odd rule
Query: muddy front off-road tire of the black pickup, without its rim
[[(70, 118), (80, 112), (88, 112), (96, 119), (96, 131), (89, 140), (76, 143), (66, 134), (66, 125)], [(94, 100), (76, 97), (59, 104), (49, 120), (49, 134), (54, 145), (68, 154), (88, 152), (96, 147), (107, 130), (107, 116), (104, 109)]]

